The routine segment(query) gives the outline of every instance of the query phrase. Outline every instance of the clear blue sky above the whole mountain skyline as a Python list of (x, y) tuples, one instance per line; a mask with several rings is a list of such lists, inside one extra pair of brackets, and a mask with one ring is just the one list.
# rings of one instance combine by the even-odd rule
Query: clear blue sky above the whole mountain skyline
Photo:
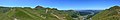
[(120, 6), (120, 0), (0, 0), (0, 6), (57, 8), (59, 10), (104, 10)]

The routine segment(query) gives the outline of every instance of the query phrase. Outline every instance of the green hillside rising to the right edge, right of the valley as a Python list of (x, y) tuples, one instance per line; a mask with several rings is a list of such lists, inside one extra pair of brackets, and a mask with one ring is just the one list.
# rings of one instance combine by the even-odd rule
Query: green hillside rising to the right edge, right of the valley
[(120, 20), (120, 6), (113, 6), (92, 17), (92, 20)]

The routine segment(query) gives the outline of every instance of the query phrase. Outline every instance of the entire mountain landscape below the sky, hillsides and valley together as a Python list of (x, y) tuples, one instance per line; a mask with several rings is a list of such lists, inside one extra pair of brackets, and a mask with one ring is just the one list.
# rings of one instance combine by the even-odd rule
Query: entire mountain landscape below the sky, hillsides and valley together
[(120, 6), (105, 10), (58, 10), (0, 6), (0, 20), (120, 20)]

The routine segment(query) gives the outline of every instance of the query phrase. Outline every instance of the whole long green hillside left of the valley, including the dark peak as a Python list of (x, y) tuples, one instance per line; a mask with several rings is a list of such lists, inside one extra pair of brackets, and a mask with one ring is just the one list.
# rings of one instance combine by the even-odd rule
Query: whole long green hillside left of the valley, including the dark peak
[(73, 20), (77, 17), (72, 10), (57, 10), (42, 6), (30, 7), (0, 7), (0, 20)]

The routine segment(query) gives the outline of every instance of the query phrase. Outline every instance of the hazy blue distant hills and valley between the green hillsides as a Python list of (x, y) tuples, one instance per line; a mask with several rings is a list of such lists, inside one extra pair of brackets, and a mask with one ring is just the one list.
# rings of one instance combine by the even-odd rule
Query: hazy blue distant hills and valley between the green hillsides
[(95, 15), (102, 10), (77, 10), (76, 12), (80, 13), (81, 16), (84, 15)]

